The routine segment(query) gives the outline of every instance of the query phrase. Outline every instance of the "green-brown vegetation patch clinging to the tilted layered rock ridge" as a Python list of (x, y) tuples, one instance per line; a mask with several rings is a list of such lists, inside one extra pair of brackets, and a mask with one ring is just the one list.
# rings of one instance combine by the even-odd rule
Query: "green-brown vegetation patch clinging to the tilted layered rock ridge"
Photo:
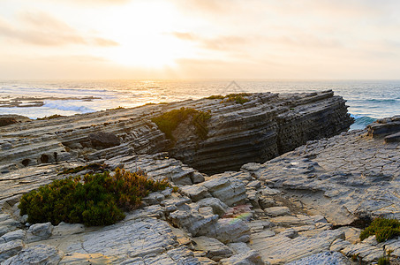
[(165, 133), (165, 136), (175, 141), (172, 132), (177, 129), (177, 125), (184, 122), (187, 118), (191, 119), (191, 124), (196, 128), (196, 134), (201, 140), (207, 139), (208, 125), (207, 121), (211, 117), (209, 111), (199, 111), (190, 108), (180, 108), (179, 110), (170, 110), (163, 113), (161, 116), (153, 117), (151, 120), (157, 127)]

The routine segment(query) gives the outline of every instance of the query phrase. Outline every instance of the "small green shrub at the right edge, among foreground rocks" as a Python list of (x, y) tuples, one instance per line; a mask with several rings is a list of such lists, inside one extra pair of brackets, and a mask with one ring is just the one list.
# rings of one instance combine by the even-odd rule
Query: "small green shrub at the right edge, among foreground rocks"
[(400, 222), (396, 219), (376, 218), (361, 232), (359, 239), (364, 240), (373, 235), (379, 243), (400, 236)]

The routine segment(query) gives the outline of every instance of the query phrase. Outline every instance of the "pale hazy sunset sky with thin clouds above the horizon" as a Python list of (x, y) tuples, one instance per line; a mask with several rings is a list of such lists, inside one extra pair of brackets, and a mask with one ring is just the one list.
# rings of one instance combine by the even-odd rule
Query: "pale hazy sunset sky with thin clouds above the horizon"
[(399, 79), (397, 0), (0, 0), (0, 79)]

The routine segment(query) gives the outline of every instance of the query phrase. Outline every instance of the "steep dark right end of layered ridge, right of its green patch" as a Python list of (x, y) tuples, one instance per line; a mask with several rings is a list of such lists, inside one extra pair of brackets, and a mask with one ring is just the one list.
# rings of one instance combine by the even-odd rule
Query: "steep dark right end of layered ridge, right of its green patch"
[(307, 140), (343, 132), (352, 123), (343, 100), (332, 91), (248, 98), (245, 105), (220, 104), (218, 108), (211, 100), (208, 106), (193, 102), (197, 110), (214, 107), (208, 139), (180, 140), (170, 155), (208, 174), (239, 170), (244, 163), (264, 163)]

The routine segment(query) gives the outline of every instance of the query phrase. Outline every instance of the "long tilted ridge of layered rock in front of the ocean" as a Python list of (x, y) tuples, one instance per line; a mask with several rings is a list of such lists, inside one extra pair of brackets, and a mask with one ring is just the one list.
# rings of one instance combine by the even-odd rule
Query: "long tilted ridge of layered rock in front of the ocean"
[[(0, 172), (31, 165), (117, 155), (169, 154), (207, 173), (238, 170), (244, 163), (263, 163), (276, 155), (349, 128), (345, 101), (332, 91), (311, 94), (253, 94), (248, 102), (219, 99), (146, 105), (18, 123), (0, 128)], [(171, 148), (151, 121), (182, 107), (209, 111), (207, 139), (190, 123), (178, 125)]]

